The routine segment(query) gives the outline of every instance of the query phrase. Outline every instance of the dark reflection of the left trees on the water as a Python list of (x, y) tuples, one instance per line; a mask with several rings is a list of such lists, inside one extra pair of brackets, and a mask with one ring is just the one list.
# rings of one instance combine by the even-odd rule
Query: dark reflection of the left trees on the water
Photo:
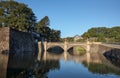
[(35, 67), (28, 69), (9, 68), (7, 70), (7, 78), (48, 78), (48, 72), (60, 69), (58, 60), (42, 60), (37, 62), (36, 65), (36, 69)]

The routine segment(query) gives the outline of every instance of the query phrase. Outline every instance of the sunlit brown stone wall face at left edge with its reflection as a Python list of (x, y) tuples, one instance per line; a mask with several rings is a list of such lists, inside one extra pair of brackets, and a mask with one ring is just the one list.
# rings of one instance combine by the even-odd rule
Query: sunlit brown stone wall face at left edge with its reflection
[(0, 28), (0, 78), (6, 78), (9, 57), (9, 28)]

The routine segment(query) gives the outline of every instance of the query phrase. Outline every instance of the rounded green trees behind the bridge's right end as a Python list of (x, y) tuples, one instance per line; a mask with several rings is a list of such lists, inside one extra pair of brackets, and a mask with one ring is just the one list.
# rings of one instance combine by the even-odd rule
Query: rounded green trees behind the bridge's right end
[(120, 42), (120, 26), (91, 28), (82, 35), (83, 38), (94, 38), (101, 42)]

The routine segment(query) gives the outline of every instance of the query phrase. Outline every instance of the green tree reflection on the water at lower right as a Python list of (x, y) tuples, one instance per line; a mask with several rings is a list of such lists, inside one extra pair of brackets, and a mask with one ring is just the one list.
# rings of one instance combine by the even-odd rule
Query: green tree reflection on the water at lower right
[(84, 61), (83, 65), (88, 68), (88, 70), (95, 74), (116, 74), (120, 75), (119, 69), (114, 69), (103, 63), (89, 63), (89, 65)]

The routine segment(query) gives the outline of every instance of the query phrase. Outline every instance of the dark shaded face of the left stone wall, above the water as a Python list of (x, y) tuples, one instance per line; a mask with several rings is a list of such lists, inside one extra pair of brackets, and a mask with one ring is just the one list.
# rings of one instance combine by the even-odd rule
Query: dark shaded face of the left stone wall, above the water
[(35, 43), (32, 35), (10, 29), (10, 54), (20, 56), (31, 53), (35, 53)]

